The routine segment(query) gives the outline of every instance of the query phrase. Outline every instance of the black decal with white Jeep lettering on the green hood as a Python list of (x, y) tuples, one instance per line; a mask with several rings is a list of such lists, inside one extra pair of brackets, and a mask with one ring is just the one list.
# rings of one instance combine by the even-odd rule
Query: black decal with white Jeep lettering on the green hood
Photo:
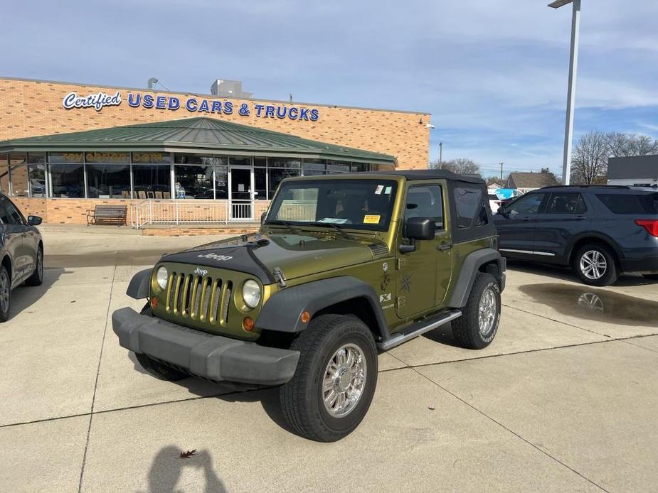
[(210, 243), (179, 251), (176, 254), (164, 255), (160, 261), (245, 272), (258, 277), (261, 283), (269, 284), (275, 282), (275, 278), (254, 253), (254, 249), (262, 246), (261, 242), (262, 240), (230, 244)]

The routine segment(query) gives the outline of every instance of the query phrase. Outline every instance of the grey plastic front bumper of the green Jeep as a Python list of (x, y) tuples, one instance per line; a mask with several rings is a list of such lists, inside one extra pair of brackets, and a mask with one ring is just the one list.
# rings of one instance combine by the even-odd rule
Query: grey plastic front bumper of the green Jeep
[(132, 308), (112, 313), (112, 330), (127, 350), (174, 364), (211, 380), (284, 384), (292, 378), (299, 351), (264, 347), (190, 329)]

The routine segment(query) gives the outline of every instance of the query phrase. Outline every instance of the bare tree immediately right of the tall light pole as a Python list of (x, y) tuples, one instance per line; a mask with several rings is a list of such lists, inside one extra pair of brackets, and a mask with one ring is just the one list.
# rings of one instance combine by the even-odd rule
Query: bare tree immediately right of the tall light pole
[(593, 131), (580, 137), (571, 155), (571, 183), (590, 185), (607, 172), (610, 144), (607, 135)]

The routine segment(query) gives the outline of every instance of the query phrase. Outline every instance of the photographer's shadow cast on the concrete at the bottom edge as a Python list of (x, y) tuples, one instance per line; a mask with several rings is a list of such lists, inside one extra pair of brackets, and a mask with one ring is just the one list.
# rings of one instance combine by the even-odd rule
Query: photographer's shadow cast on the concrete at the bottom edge
[(149, 470), (149, 492), (181, 491), (176, 488), (184, 467), (203, 470), (206, 484), (204, 492), (225, 493), (227, 490), (213, 468), (213, 458), (207, 450), (196, 451), (189, 457), (181, 457), (181, 450), (175, 445), (161, 448)]

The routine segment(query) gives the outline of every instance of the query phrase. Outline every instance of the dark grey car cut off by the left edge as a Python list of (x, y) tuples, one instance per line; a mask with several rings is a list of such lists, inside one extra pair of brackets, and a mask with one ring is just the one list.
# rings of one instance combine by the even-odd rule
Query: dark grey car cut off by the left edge
[(43, 282), (43, 240), (36, 228), (41, 217), (25, 217), (0, 193), (0, 322), (9, 320), (11, 291)]

